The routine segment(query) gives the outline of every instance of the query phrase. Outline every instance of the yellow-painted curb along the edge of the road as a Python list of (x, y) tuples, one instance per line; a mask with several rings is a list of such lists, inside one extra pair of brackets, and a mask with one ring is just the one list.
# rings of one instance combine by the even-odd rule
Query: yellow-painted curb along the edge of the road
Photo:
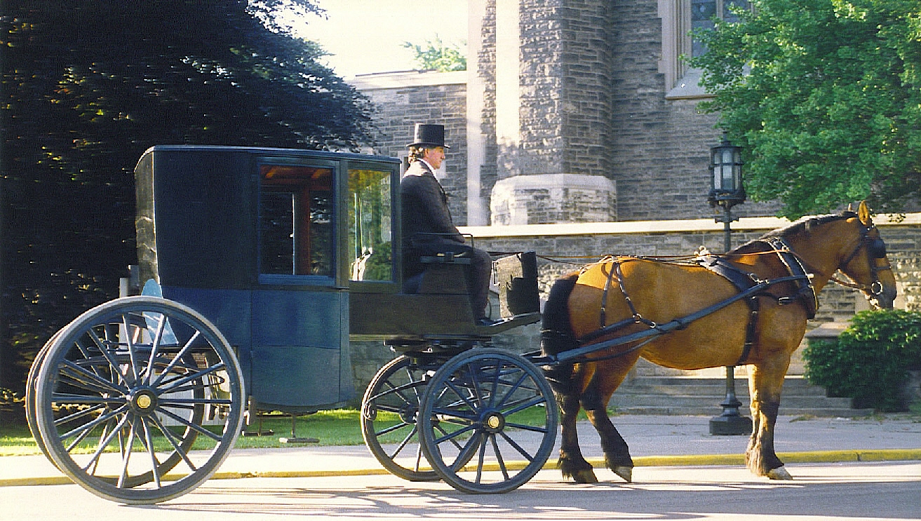
[[(921, 460), (919, 449), (876, 449), (876, 450), (825, 450), (810, 452), (779, 452), (787, 463), (842, 463), (868, 461), (918, 461)], [(744, 465), (742, 454), (694, 454), (686, 456), (640, 456), (634, 457), (635, 467), (695, 467), (707, 465)], [(595, 469), (605, 467), (604, 458), (587, 458)], [(507, 469), (523, 469), (526, 462), (507, 462)], [(547, 462), (543, 469), (555, 469), (555, 462)], [(489, 465), (485, 470), (497, 470)], [(264, 472), (220, 472), (217, 471), (209, 480), (241, 480), (246, 478), (332, 478), (347, 476), (374, 476), (389, 474), (387, 469), (350, 469), (350, 470), (268, 470)], [(168, 476), (169, 477), (169, 476)], [(67, 476), (49, 476), (36, 478), (0, 479), (0, 487), (29, 487), (36, 485), (66, 485), (73, 483)]]

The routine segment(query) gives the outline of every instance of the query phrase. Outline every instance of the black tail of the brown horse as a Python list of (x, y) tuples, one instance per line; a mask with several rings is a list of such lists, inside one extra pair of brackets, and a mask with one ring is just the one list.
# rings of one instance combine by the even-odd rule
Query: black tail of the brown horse
[[(543, 306), (541, 328), (541, 351), (545, 355), (553, 356), (577, 347), (569, 320), (569, 294), (576, 287), (577, 279), (578, 272), (569, 273), (550, 288), (550, 295)], [(555, 393), (568, 395), (572, 392), (572, 363), (550, 365), (543, 370), (543, 374)]]

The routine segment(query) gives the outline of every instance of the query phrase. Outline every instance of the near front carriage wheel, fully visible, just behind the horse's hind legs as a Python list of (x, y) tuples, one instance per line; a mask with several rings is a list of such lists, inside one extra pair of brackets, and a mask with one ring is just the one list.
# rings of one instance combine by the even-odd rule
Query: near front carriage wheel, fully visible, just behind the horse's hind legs
[(509, 492), (530, 480), (550, 457), (557, 424), (554, 394), (541, 370), (494, 348), (442, 365), (419, 411), (422, 450), (432, 468), (469, 493)]

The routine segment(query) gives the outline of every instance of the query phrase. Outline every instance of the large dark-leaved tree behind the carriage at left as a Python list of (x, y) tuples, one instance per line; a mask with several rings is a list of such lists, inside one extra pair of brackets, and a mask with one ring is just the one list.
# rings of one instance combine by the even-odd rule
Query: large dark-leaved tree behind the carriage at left
[(4, 0), (0, 386), (21, 388), (41, 342), (116, 296), (149, 146), (369, 141), (367, 98), (272, 16), (312, 2)]

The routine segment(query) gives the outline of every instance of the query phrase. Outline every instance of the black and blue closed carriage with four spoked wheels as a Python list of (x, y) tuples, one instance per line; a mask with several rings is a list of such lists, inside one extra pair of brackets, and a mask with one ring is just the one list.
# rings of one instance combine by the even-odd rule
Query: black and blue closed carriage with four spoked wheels
[(529, 480), (554, 444), (553, 395), (490, 339), (540, 318), (534, 255), (496, 260), (503, 319), (491, 327), (473, 319), (463, 254), (423, 258), (426, 271), (402, 280), (400, 170), (389, 157), (292, 149), (146, 151), (140, 295), (76, 318), (29, 375), (46, 456), (114, 501), (177, 497), (216, 471), (247, 411), (353, 399), (349, 341), (376, 339), (398, 355), (362, 400), (381, 464), (465, 492)]

